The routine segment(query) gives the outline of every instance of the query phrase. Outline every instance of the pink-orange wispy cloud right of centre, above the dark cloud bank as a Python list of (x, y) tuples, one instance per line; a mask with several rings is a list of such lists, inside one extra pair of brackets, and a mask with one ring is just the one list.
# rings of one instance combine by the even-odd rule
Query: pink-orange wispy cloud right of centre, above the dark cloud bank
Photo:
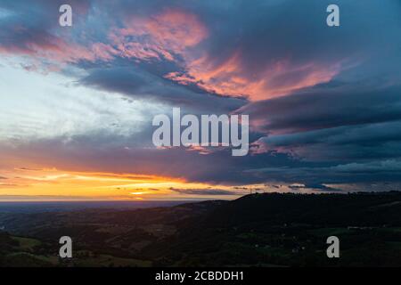
[(251, 73), (242, 61), (240, 51), (218, 64), (203, 56), (187, 62), (185, 73), (172, 72), (166, 77), (182, 85), (198, 85), (211, 93), (247, 96), (258, 101), (328, 82), (340, 71), (340, 65), (325, 66), (318, 62), (294, 65), (290, 60), (282, 60), (267, 65), (262, 72)]

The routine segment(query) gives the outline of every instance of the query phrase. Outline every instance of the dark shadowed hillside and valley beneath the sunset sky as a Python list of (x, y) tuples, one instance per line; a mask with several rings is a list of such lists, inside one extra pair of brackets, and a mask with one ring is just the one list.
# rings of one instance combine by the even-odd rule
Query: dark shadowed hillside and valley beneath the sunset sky
[[(27, 250), (21, 238), (11, 239), (3, 256), (28, 252), (51, 260), (47, 265), (401, 265), (399, 192), (266, 193), (165, 208), (4, 213), (0, 225), (40, 240)], [(57, 259), (61, 235), (74, 240), (69, 262)], [(339, 259), (325, 255), (330, 235), (340, 238)]]

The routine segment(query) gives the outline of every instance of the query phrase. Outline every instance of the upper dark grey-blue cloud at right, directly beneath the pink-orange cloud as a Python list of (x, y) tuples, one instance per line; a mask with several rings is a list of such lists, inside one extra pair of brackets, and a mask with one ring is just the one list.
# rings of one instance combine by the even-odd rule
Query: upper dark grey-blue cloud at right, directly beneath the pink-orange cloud
[(331, 82), (250, 103), (238, 112), (249, 113), (255, 127), (267, 133), (294, 133), (399, 120), (400, 94), (401, 85)]

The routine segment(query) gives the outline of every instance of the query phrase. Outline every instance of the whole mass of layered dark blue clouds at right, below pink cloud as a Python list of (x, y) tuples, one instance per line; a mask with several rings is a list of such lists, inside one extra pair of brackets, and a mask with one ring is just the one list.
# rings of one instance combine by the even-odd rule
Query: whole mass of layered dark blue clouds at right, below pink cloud
[(332, 82), (242, 108), (259, 147), (318, 161), (401, 157), (401, 86)]

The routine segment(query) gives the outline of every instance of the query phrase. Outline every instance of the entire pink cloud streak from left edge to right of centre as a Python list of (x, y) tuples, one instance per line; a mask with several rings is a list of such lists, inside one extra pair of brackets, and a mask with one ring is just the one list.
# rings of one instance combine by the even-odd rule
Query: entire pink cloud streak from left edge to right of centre
[[(294, 63), (291, 56), (277, 59), (252, 72), (246, 54), (237, 49), (225, 61), (217, 61), (201, 49), (209, 36), (199, 17), (183, 10), (167, 9), (149, 17), (133, 16), (123, 28), (110, 28), (108, 42), (79, 45), (48, 33), (32, 37), (16, 27), (23, 38), (19, 45), (0, 45), (0, 53), (26, 54), (59, 63), (112, 61), (125, 57), (137, 61), (176, 61), (184, 72), (171, 72), (166, 78), (181, 85), (197, 85), (222, 96), (245, 96), (250, 101), (265, 100), (297, 89), (325, 83), (340, 71), (340, 63)], [(26, 36), (26, 37), (25, 37)], [(25, 39), (28, 38), (28, 39)]]

